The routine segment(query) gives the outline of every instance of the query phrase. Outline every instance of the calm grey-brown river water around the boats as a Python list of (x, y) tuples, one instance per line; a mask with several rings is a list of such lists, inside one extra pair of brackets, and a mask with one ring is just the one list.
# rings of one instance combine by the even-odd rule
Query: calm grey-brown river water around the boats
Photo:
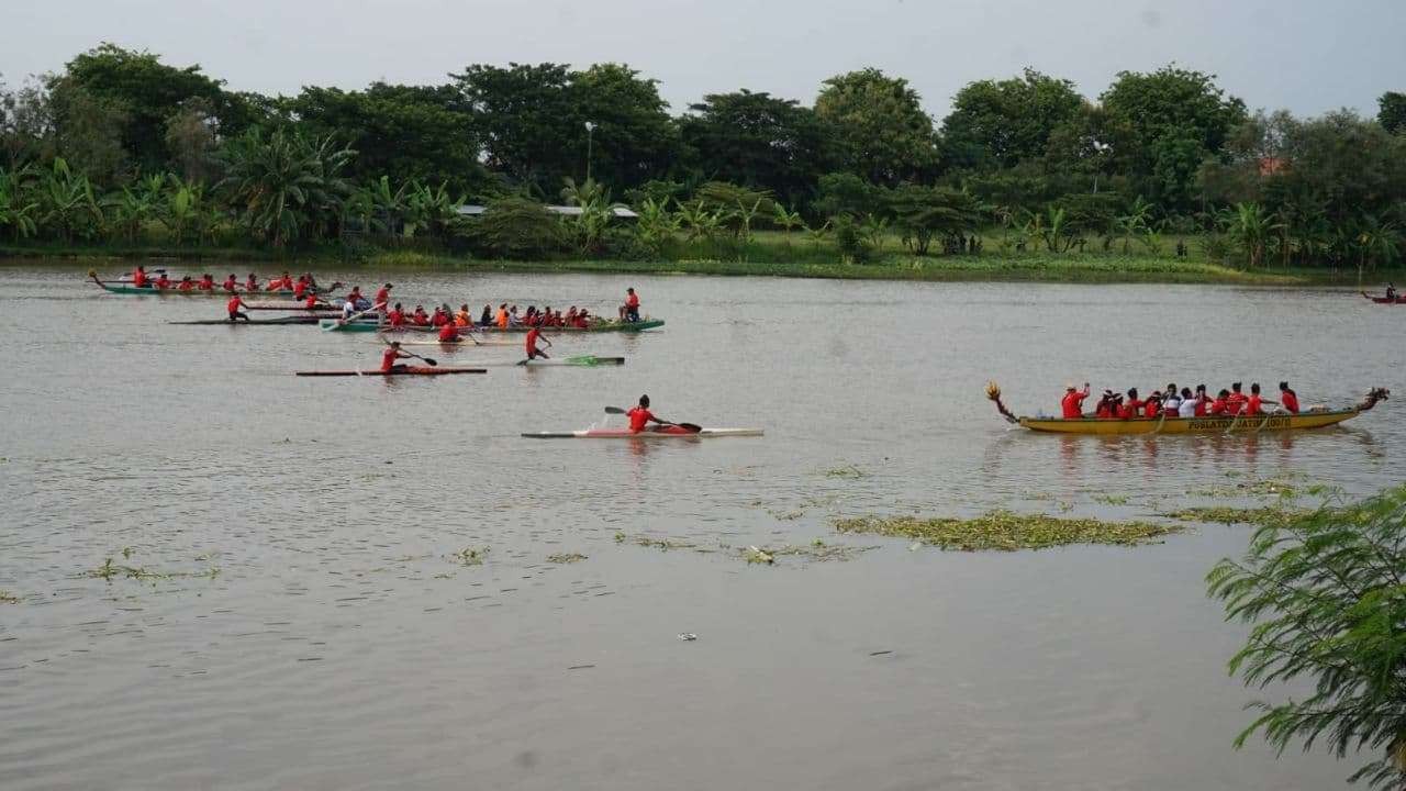
[[(0, 590), (21, 600), (0, 604), (0, 787), (1333, 788), (1355, 768), (1232, 747), (1256, 697), (1225, 671), (1246, 628), (1204, 576), (1249, 528), (957, 553), (832, 519), (1150, 518), (1282, 476), (1376, 491), (1406, 455), (1393, 403), (1298, 435), (1057, 438), (1008, 431), (981, 388), (1018, 412), (1056, 411), (1071, 379), (1406, 393), (1406, 308), (1226, 286), (394, 280), (406, 301), (606, 311), (633, 284), (668, 325), (557, 343), (620, 369), (309, 380), (291, 373), (377, 365), (375, 341), (167, 327), (222, 301), (0, 270)], [(641, 393), (766, 436), (519, 436)], [(875, 549), (738, 555), (815, 539)], [(105, 559), (152, 576), (89, 576)]]

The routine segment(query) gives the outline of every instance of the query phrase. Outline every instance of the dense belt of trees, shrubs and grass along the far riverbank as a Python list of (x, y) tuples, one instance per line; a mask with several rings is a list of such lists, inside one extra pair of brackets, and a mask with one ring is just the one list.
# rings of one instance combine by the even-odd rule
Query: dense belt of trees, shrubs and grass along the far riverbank
[(267, 97), (104, 44), (0, 84), (0, 252), (1362, 277), (1406, 243), (1402, 103), (1295, 118), (1174, 66), (1097, 99), (1026, 70), (967, 84), (935, 121), (907, 80), (862, 69), (808, 106), (742, 89), (671, 114), (616, 63)]

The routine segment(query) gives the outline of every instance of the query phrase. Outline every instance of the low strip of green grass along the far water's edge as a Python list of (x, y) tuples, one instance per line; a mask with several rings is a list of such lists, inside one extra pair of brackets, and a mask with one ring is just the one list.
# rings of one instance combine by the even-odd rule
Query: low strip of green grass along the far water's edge
[[(689, 252), (699, 258), (683, 258)], [(865, 263), (845, 263), (828, 245), (783, 239), (780, 234), (758, 234), (738, 248), (675, 249), (662, 260), (576, 259), (553, 260), (484, 260), (443, 252), (364, 251), (349, 256), (339, 246), (298, 251), (267, 248), (167, 248), (167, 246), (55, 246), (0, 245), (0, 263), (120, 269), (129, 262), (201, 262), (205, 269), (224, 274), (225, 269), (242, 270), (249, 265), (263, 269), (357, 267), (371, 270), (439, 272), (595, 272), (630, 274), (720, 274), (823, 277), (852, 280), (1010, 280), (1045, 283), (1239, 283), (1264, 286), (1355, 284), (1355, 270), (1330, 269), (1260, 269), (1240, 270), (1206, 263), (1195, 258), (1178, 259), (1157, 253), (1049, 253), (1042, 251), (995, 252), (981, 255), (908, 255), (897, 243), (886, 245)], [(682, 255), (681, 255), (682, 253)], [(707, 255), (723, 253), (723, 255)], [(193, 267), (193, 269), (200, 269)], [(239, 272), (242, 274), (242, 272)], [(1406, 270), (1378, 270), (1367, 276), (1369, 284), (1406, 280)]]

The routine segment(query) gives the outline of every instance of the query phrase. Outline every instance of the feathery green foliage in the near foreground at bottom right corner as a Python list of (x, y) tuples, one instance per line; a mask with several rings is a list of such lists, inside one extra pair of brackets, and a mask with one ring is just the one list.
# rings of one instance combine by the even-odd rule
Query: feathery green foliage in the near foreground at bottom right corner
[(1236, 738), (1281, 752), (1324, 740), (1339, 757), (1379, 750), (1350, 780), (1406, 785), (1406, 487), (1260, 528), (1206, 576), (1226, 618), (1253, 624), (1232, 676), (1261, 690), (1299, 680), (1302, 698), (1258, 701)]

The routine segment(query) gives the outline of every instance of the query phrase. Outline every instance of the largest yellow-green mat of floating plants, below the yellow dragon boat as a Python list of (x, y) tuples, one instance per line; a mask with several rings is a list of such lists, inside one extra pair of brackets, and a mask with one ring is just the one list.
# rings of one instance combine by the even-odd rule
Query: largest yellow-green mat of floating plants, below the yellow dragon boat
[(1181, 532), (1178, 525), (1152, 522), (1105, 522), (1102, 519), (1070, 519), (1047, 514), (1012, 514), (991, 511), (974, 519), (920, 519), (917, 517), (860, 517), (838, 519), (835, 529), (842, 533), (873, 533), (910, 538), (942, 549), (976, 552), (994, 549), (1046, 549), (1069, 543), (1111, 543), (1136, 546), (1153, 543), (1168, 533)]

